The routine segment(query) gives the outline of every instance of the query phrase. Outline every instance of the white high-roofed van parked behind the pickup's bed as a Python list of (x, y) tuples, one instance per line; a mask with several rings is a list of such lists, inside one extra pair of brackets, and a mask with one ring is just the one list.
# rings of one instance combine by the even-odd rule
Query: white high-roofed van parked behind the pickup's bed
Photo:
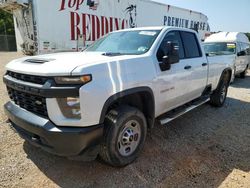
[(209, 56), (220, 56), (234, 69), (234, 75), (245, 78), (250, 64), (250, 42), (244, 33), (219, 32), (209, 36), (204, 42)]

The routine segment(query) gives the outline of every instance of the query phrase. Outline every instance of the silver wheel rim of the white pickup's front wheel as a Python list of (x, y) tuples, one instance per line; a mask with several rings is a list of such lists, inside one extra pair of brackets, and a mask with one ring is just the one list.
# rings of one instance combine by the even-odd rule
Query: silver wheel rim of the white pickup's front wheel
[(118, 151), (126, 157), (131, 155), (138, 147), (141, 139), (141, 126), (138, 121), (128, 121), (118, 136)]

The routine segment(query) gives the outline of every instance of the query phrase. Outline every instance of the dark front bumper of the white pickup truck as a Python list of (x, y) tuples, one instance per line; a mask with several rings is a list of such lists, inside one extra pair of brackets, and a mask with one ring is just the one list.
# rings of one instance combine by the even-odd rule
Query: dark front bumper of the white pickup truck
[(49, 153), (71, 158), (88, 153), (94, 158), (98, 154), (98, 150), (93, 148), (102, 140), (103, 125), (86, 128), (58, 127), (13, 102), (6, 103), (4, 109), (11, 125), (25, 140)]

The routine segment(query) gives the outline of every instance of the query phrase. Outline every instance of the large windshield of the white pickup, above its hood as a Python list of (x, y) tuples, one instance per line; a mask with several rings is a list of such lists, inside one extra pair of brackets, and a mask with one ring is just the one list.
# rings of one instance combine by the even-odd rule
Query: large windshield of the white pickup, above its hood
[(136, 30), (110, 33), (97, 40), (85, 51), (104, 52), (107, 55), (140, 55), (153, 45), (160, 30)]

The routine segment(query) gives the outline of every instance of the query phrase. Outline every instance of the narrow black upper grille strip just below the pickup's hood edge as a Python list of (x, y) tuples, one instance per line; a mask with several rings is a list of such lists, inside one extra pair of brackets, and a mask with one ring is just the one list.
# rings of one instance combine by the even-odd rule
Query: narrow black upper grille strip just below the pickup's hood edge
[(20, 74), (12, 71), (7, 71), (6, 74), (17, 80), (22, 80), (25, 82), (31, 82), (40, 85), (45, 84), (45, 82), (49, 79), (48, 77)]

